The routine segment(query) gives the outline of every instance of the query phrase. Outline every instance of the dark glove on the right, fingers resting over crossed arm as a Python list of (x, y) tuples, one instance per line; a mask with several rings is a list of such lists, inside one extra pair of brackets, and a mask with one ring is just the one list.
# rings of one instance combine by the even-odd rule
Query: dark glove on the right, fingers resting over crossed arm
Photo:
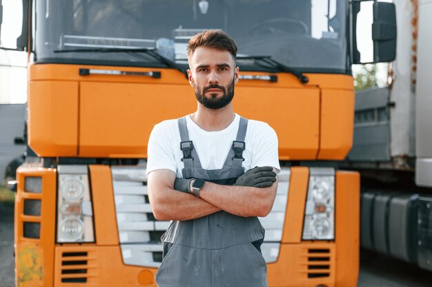
[(276, 181), (273, 167), (254, 167), (237, 178), (234, 185), (242, 187), (271, 187)]

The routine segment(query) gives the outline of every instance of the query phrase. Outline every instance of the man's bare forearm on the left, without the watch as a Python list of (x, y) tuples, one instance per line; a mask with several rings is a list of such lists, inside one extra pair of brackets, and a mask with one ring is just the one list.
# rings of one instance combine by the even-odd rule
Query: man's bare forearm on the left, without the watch
[(166, 187), (159, 189), (150, 198), (150, 204), (157, 220), (193, 220), (217, 211), (217, 206), (194, 195)]

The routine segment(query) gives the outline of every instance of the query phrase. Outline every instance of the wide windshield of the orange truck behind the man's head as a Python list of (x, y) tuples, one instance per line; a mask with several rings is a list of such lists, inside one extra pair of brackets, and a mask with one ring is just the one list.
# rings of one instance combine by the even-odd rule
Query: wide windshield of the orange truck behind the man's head
[[(44, 0), (35, 8), (36, 62), (166, 67), (127, 51), (150, 48), (186, 65), (190, 37), (219, 29), (235, 39), (239, 56), (271, 56), (302, 72), (346, 72), (344, 0)], [(259, 70), (251, 59), (238, 64)]]

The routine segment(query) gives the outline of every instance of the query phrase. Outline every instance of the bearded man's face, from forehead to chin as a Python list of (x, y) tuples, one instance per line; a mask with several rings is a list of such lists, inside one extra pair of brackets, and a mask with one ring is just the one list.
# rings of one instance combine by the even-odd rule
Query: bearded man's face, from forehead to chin
[(230, 52), (197, 47), (188, 61), (189, 83), (199, 103), (208, 109), (220, 109), (231, 103), (239, 68), (235, 67)]

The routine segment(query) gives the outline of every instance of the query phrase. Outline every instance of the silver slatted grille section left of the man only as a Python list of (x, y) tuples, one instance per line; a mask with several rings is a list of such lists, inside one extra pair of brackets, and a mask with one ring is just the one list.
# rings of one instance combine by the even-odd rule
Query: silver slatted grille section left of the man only
[(117, 227), (125, 264), (159, 267), (161, 235), (169, 221), (157, 221), (148, 202), (145, 167), (112, 167)]

